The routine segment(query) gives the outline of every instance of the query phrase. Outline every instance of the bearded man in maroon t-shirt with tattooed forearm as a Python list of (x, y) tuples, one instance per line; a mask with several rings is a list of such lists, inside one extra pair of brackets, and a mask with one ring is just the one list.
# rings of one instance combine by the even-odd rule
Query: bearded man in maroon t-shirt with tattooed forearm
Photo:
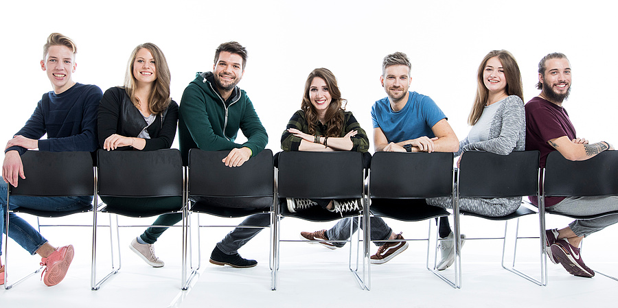
[[(571, 64), (564, 54), (548, 54), (538, 64), (537, 88), (541, 93), (526, 104), (526, 150), (540, 151), (540, 167), (545, 167), (547, 155), (558, 150), (570, 161), (584, 161), (605, 150), (614, 150), (610, 143), (590, 144), (577, 138), (573, 123), (562, 102), (571, 92)], [(530, 198), (536, 204), (536, 198)], [(545, 198), (551, 211), (571, 215), (596, 215), (618, 211), (618, 196)], [(585, 236), (618, 222), (618, 215), (593, 220), (575, 220), (566, 228), (545, 230), (547, 257), (575, 276), (592, 277), (580, 255), (580, 243)]]

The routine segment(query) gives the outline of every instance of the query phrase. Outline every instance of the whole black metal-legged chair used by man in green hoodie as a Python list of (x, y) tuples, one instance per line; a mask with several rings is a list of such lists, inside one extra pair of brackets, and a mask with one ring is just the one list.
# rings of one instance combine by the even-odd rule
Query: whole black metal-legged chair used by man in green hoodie
[[(209, 152), (199, 149), (189, 151), (187, 200), (189, 198), (192, 200), (192, 206), (188, 214), (207, 213), (233, 218), (270, 213), (270, 226), (272, 226), (275, 204), (273, 152), (263, 150), (240, 167), (226, 167), (221, 161), (227, 154), (229, 151)], [(191, 224), (187, 226), (190, 227)], [(197, 226), (198, 255), (201, 255), (199, 227), (235, 227), (202, 226), (199, 223), (199, 216)], [(243, 226), (243, 228), (264, 228), (264, 226)], [(273, 232), (274, 229), (271, 228), (271, 247)], [(198, 257), (199, 259), (201, 258)], [(272, 264), (271, 255), (271, 268)], [(192, 278), (193, 276), (187, 281), (185, 288)]]

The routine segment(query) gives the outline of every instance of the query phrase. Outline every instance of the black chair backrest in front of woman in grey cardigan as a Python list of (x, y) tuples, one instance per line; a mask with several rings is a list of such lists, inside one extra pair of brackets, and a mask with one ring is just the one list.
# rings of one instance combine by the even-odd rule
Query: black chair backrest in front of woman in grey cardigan
[(459, 163), (459, 197), (521, 197), (538, 194), (538, 151), (499, 155), (465, 152)]

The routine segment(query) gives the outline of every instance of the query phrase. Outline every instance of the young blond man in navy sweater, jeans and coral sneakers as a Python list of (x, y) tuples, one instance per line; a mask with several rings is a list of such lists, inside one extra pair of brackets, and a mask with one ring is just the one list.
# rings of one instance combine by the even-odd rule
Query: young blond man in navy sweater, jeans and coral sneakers
[[(73, 211), (91, 206), (90, 197), (29, 197), (14, 196), (6, 204), (8, 184), (17, 187), (25, 179), (21, 154), (37, 149), (49, 152), (86, 151), (97, 149), (97, 108), (102, 91), (98, 86), (73, 82), (77, 47), (73, 40), (52, 33), (43, 47), (41, 69), (47, 73), (54, 91), (45, 93), (25, 126), (5, 147), (2, 180), (0, 180), (0, 230), (5, 228), (5, 211), (25, 207), (41, 211)], [(39, 140), (47, 134), (47, 139)], [(65, 278), (73, 260), (73, 246), (56, 248), (35, 228), (14, 213), (6, 226), (9, 235), (30, 254), (39, 254), (46, 265), (43, 283), (57, 285)], [(1, 237), (0, 237), (1, 247)], [(1, 250), (0, 250), (1, 254)], [(4, 283), (4, 267), (0, 264), (0, 285)]]

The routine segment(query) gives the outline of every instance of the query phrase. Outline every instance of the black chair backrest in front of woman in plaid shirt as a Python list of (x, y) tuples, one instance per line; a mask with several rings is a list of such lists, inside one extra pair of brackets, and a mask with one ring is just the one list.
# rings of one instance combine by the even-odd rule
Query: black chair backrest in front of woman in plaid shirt
[(281, 152), (278, 169), (280, 198), (363, 196), (363, 155), (359, 152)]

